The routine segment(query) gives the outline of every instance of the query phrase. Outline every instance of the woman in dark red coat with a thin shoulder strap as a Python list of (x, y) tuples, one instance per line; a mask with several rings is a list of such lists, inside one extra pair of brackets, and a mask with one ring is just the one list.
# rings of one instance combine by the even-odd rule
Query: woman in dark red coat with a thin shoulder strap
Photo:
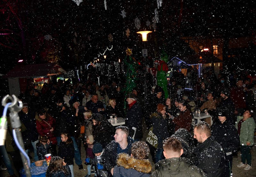
[(52, 156), (56, 156), (57, 139), (54, 134), (55, 119), (52, 118), (49, 114), (47, 114), (47, 112), (44, 109), (38, 111), (38, 116), (40, 118), (36, 120), (36, 130), (38, 131), (39, 136), (46, 136), (51, 141)]

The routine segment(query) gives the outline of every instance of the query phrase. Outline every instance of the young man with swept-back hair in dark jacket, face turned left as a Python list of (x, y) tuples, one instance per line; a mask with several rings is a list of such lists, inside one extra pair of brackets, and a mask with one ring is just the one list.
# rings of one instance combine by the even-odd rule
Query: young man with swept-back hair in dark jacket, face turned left
[[(128, 137), (129, 129), (125, 126), (116, 127), (115, 140), (111, 141), (103, 152), (104, 167), (108, 170), (108, 174), (113, 175), (114, 167), (116, 166), (116, 158), (120, 153), (131, 155), (133, 139)], [(110, 175), (111, 176), (111, 175)]]

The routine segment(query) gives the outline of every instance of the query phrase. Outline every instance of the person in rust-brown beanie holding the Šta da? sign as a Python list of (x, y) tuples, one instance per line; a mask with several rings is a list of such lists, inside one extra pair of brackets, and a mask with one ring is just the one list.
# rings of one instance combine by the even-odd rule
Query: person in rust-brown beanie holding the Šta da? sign
[(169, 137), (169, 131), (167, 129), (169, 116), (166, 116), (165, 114), (166, 107), (159, 103), (157, 104), (156, 110), (157, 112), (151, 114), (150, 116), (153, 123), (153, 133), (156, 135), (158, 141), (155, 163), (164, 159), (163, 140)]

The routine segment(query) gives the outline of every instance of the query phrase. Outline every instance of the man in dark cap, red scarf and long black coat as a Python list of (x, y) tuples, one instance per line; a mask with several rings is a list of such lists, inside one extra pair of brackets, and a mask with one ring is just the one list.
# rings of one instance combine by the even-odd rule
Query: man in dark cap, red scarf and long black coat
[(140, 141), (143, 137), (141, 106), (137, 102), (135, 94), (127, 95), (126, 101), (128, 103), (128, 109), (126, 113), (125, 126), (129, 128), (130, 136), (134, 136), (134, 140)]

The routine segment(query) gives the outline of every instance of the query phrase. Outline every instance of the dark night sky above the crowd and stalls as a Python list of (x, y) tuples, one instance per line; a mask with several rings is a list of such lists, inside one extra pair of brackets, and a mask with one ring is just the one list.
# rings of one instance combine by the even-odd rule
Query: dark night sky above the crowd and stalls
[[(255, 37), (255, 2), (223, 0), (162, 1), (157, 8), (156, 0), (84, 0), (79, 6), (72, 0), (2, 0), (0, 2), (1, 74), (8, 72), (18, 59), (25, 63), (46, 62), (52, 57), (66, 70), (99, 58), (107, 48), (108, 60), (125, 57), (127, 47), (140, 60), (144, 47), (136, 32), (144, 29), (158, 12), (156, 31), (148, 36), (148, 53), (159, 58), (164, 49), (169, 58), (192, 54), (190, 47), (180, 40), (182, 36)], [(126, 12), (123, 18), (121, 11)], [(141, 28), (134, 20), (139, 18)], [(126, 29), (130, 29), (127, 38)], [(50, 34), (52, 40), (45, 40)], [(108, 35), (113, 41), (108, 40)], [(76, 38), (76, 44), (74, 43)], [(252, 44), (255, 48), (255, 44)], [(247, 50), (250, 52), (252, 50)], [(246, 53), (248, 54), (248, 53)], [(100, 57), (102, 57), (100, 55)], [(246, 57), (246, 56), (245, 56)], [(247, 57), (248, 58), (248, 57)]]

